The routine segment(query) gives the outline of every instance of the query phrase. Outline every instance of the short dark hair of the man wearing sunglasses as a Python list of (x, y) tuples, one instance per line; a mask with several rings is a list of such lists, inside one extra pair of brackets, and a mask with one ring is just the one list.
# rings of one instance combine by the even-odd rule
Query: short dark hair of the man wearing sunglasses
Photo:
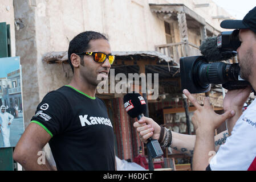
[[(73, 73), (74, 73), (74, 67), (71, 63), (71, 54), (87, 51), (87, 49), (90, 48), (89, 42), (91, 40), (97, 40), (97, 39), (108, 40), (105, 35), (95, 31), (82, 32), (76, 35), (71, 40), (70, 45), (68, 46), (68, 63), (70, 64)], [(83, 56), (81, 57), (81, 59), (83, 59)]]

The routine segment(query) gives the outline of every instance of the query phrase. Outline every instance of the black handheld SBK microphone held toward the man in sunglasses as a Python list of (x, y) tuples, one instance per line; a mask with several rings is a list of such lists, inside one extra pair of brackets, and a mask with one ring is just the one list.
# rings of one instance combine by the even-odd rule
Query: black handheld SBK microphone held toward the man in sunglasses
[[(130, 117), (137, 118), (139, 120), (144, 116), (143, 113), (145, 113), (147, 105), (144, 98), (139, 93), (133, 92), (124, 96), (124, 109)], [(149, 138), (146, 145), (152, 158), (156, 158), (164, 154), (156, 139), (152, 139), (152, 137)]]

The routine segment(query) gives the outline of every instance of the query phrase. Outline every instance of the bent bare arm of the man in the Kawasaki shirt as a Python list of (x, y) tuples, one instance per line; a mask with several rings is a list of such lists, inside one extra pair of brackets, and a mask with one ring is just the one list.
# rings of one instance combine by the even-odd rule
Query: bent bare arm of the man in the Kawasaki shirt
[(28, 171), (52, 170), (47, 160), (45, 164), (38, 163), (38, 152), (42, 151), (50, 139), (51, 135), (46, 130), (36, 123), (30, 123), (15, 147), (13, 159)]

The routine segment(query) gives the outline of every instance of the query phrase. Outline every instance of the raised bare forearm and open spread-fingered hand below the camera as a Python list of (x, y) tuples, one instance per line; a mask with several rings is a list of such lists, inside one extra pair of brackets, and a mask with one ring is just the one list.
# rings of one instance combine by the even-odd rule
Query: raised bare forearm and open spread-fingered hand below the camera
[(183, 90), (192, 104), (196, 107), (192, 122), (196, 131), (196, 143), (193, 155), (193, 170), (205, 170), (209, 165), (209, 152), (214, 151), (214, 130), (227, 118), (234, 116), (235, 112), (226, 111), (224, 114), (217, 114), (210, 105), (209, 97), (204, 100), (204, 106), (198, 104), (197, 100), (188, 92)]

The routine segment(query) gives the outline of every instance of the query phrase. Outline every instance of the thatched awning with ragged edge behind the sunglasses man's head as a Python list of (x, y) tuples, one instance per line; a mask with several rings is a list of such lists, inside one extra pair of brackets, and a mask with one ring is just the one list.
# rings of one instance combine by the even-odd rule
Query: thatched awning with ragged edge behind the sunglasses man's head
[[(159, 73), (160, 78), (168, 77), (179, 77), (180, 65), (176, 63), (171, 57), (166, 56), (157, 51), (113, 51), (113, 55), (116, 56), (116, 60), (125, 60), (125, 61), (141, 61), (141, 60), (152, 60), (154, 64), (145, 65), (147, 73)], [(43, 55), (43, 61), (46, 61), (48, 64), (62, 64), (67, 63), (68, 53), (67, 51), (62, 52), (48, 52)], [(128, 73), (139, 72), (139, 67), (136, 64), (119, 64), (112, 65), (111, 68), (116, 69), (116, 73), (123, 73), (124, 71)]]

